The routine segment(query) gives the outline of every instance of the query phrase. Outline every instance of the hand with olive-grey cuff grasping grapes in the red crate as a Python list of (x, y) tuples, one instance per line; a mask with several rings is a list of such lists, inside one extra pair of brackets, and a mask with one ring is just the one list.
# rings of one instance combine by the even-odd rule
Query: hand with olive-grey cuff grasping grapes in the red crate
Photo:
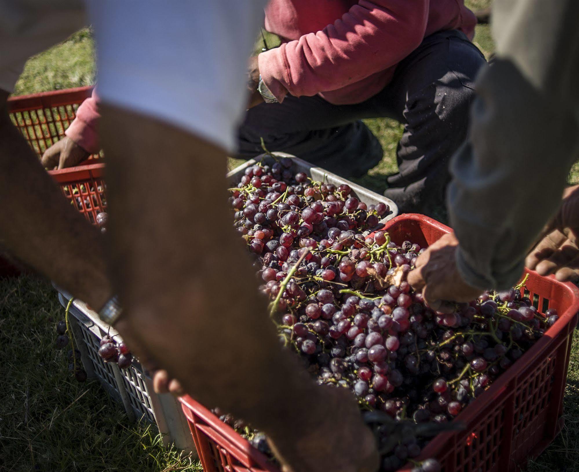
[(424, 301), (439, 312), (452, 312), (452, 302), (470, 302), (482, 290), (467, 284), (456, 266), (459, 240), (455, 233), (444, 235), (428, 246), (416, 259), (416, 267), (408, 274), (408, 283), (414, 290), (422, 290)]

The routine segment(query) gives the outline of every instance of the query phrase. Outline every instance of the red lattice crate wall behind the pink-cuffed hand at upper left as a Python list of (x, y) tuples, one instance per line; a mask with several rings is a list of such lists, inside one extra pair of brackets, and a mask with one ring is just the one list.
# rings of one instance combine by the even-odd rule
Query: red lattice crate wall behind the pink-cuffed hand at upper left
[[(79, 105), (90, 97), (93, 87), (54, 90), (8, 98), (8, 112), (31, 148), (40, 158), (47, 148), (64, 136), (64, 131), (76, 118)], [(100, 159), (89, 156), (86, 163)]]

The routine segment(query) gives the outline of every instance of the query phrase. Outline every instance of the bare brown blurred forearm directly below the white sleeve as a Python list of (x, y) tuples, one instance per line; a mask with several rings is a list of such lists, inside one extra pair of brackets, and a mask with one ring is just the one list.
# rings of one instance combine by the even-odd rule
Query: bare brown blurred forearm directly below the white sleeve
[(131, 323), (155, 326), (146, 349), (159, 356), (186, 336), (179, 363), (163, 367), (189, 394), (270, 434), (291, 429), (300, 402), (317, 390), (279, 346), (234, 234), (225, 152), (108, 106), (102, 124), (113, 273)]

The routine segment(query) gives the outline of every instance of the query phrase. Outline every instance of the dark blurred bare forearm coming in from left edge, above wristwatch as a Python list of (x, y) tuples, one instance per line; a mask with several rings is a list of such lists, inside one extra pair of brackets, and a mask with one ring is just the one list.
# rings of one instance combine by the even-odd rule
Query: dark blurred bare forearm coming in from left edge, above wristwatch
[(102, 237), (61, 195), (0, 92), (0, 237), (16, 257), (98, 308), (111, 295)]

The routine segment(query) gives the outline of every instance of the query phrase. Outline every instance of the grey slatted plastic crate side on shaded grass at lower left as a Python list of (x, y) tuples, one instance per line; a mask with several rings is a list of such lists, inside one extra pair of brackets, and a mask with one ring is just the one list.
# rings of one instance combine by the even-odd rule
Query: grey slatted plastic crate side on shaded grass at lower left
[[(70, 295), (57, 288), (58, 299), (65, 308)], [(122, 403), (131, 419), (156, 425), (163, 444), (173, 444), (185, 452), (195, 452), (195, 444), (181, 404), (171, 394), (156, 394), (149, 372), (135, 359), (127, 369), (105, 363), (98, 355), (101, 339), (109, 334), (122, 341), (118, 332), (103, 323), (96, 312), (80, 300), (72, 302), (68, 317), (76, 349), (89, 379), (98, 380), (113, 400)]]

